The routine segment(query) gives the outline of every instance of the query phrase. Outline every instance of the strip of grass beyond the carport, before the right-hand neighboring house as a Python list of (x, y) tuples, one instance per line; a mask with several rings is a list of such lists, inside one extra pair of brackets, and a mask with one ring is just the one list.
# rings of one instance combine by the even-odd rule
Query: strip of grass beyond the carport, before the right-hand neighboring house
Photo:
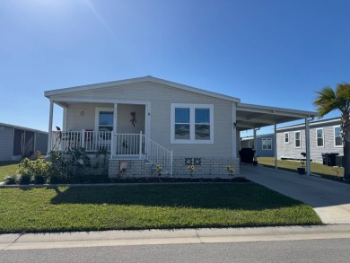
[[(258, 157), (258, 163), (269, 167), (275, 167), (275, 158)], [(296, 169), (298, 167), (301, 167), (301, 162), (277, 160), (277, 165), (278, 165), (278, 168), (297, 172)], [(306, 166), (306, 163), (305, 163), (305, 166)], [(323, 165), (322, 163), (317, 163), (317, 162), (311, 162), (311, 172), (317, 173), (319, 175), (324, 175), (324, 176), (344, 177), (344, 168), (331, 167), (331, 166)]]

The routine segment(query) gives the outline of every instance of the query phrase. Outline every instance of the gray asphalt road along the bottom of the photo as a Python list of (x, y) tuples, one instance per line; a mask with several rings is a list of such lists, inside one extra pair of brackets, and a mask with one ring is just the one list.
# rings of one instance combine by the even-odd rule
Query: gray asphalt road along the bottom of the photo
[(2, 250), (0, 262), (349, 262), (350, 239)]

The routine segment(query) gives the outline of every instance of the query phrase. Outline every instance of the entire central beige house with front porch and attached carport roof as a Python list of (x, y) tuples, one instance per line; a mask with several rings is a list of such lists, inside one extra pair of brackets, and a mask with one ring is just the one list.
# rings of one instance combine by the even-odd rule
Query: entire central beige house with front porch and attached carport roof
[[(45, 92), (48, 152), (82, 146), (109, 153), (109, 177), (144, 176), (162, 164), (170, 175), (239, 173), (240, 132), (317, 113), (241, 103), (238, 98), (152, 76)], [(54, 104), (63, 125), (53, 131)], [(56, 124), (55, 124), (56, 125)], [(149, 165), (153, 164), (153, 165)]]

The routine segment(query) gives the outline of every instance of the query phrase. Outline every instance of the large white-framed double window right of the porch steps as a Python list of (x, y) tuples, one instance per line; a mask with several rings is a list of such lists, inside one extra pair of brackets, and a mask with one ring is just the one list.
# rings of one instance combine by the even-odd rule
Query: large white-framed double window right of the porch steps
[(213, 144), (213, 105), (171, 104), (171, 143)]

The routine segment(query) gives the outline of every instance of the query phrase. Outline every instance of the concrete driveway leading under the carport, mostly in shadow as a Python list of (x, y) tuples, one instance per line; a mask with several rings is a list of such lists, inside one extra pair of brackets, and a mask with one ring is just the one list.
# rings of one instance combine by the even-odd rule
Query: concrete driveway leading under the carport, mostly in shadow
[(241, 163), (241, 176), (312, 206), (324, 224), (350, 224), (350, 185)]

